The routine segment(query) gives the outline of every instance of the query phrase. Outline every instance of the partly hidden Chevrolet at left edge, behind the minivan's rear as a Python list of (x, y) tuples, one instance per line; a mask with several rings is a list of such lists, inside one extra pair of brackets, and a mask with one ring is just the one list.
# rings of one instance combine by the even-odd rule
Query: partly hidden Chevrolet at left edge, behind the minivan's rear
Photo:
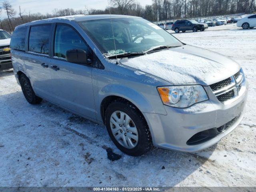
[(10, 34), (0, 29), (0, 70), (12, 68), (10, 40)]

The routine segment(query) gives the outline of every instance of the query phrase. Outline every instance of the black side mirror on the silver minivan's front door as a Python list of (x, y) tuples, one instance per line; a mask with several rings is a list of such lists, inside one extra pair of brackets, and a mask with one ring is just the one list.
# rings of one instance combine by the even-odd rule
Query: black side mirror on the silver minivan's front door
[(70, 63), (86, 63), (87, 56), (85, 50), (70, 49), (66, 51), (66, 60)]

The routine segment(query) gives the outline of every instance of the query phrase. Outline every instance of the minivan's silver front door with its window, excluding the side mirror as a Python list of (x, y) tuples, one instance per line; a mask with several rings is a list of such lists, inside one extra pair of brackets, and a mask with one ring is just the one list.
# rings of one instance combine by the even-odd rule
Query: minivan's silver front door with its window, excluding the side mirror
[(78, 32), (66, 24), (56, 24), (51, 62), (54, 102), (74, 112), (96, 119), (92, 87), (92, 64), (76, 64), (66, 60), (66, 51), (82, 49), (88, 61), (92, 51)]

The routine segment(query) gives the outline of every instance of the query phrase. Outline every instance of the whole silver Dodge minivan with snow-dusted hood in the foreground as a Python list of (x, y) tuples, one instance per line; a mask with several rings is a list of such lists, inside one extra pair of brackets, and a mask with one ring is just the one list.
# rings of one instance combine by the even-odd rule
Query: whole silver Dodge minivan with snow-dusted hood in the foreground
[(105, 124), (114, 144), (132, 156), (152, 145), (202, 150), (244, 116), (248, 86), (239, 64), (139, 17), (30, 22), (16, 27), (11, 53), (30, 104), (45, 99)]

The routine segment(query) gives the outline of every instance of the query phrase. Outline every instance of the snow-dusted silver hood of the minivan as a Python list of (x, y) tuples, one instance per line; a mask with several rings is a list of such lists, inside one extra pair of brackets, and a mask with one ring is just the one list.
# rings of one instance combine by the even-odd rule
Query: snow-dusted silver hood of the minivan
[(120, 62), (174, 85), (206, 86), (240, 70), (239, 64), (222, 54), (189, 45), (122, 59)]

